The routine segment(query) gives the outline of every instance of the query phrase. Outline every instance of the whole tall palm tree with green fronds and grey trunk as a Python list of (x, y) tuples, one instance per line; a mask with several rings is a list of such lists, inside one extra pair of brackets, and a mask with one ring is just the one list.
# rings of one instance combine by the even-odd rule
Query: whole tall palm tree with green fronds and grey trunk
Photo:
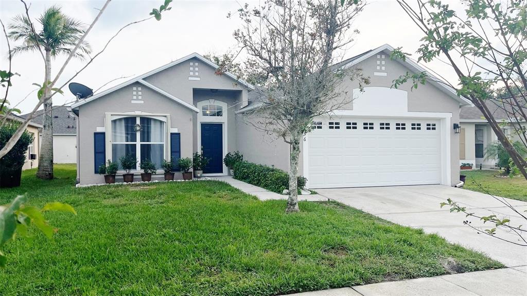
[[(38, 52), (44, 58), (44, 92), (41, 97), (44, 100), (44, 128), (36, 175), (41, 179), (53, 179), (53, 103), (50, 98), (51, 86), (47, 83), (51, 81), (51, 59), (60, 54), (70, 54), (84, 34), (85, 25), (63, 14), (58, 6), (47, 8), (37, 21), (41, 26), (40, 31), (34, 28), (27, 16), (16, 16), (8, 25), (8, 36), (13, 41), (23, 41), (22, 45), (13, 47), (13, 55)], [(90, 52), (90, 45), (82, 42), (75, 57), (83, 58)]]

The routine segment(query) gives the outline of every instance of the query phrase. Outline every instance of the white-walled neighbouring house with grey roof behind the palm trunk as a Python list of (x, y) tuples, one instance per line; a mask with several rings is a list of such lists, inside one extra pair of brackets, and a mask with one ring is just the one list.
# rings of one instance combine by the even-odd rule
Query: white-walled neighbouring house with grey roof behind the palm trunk
[[(53, 107), (53, 162), (77, 162), (77, 119), (70, 106)], [(43, 110), (38, 110), (32, 121), (42, 124)], [(28, 114), (22, 115), (26, 117)]]

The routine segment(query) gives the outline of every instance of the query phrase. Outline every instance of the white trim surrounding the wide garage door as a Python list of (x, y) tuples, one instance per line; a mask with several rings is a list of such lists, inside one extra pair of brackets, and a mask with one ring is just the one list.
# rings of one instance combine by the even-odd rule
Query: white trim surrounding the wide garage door
[[(393, 118), (397, 117), (411, 118), (411, 119), (437, 119), (441, 120), (441, 184), (451, 186), (451, 136), (453, 133), (451, 118), (452, 113), (446, 112), (394, 112), (393, 114), (376, 114), (372, 115), (369, 112), (354, 111), (354, 110), (335, 110), (332, 116), (357, 116), (365, 118)], [(320, 119), (313, 119), (314, 121), (321, 121)], [(348, 119), (346, 119), (348, 120)], [(309, 134), (304, 136), (302, 144), (302, 166), (304, 170), (302, 174), (309, 176)], [(309, 178), (306, 182), (306, 188), (309, 188)]]

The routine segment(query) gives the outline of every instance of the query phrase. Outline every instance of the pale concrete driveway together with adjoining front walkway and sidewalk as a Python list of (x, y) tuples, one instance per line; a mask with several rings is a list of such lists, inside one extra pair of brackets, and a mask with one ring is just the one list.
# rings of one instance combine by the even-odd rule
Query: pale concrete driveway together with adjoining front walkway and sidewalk
[[(258, 186), (221, 176), (211, 179), (224, 181), (260, 200), (287, 199), (287, 195), (270, 192)], [(397, 224), (421, 228), (428, 233), (437, 233), (446, 240), (477, 250), (502, 262), (509, 268), (442, 275), (405, 281), (383, 282), (351, 288), (313, 291), (290, 296), (525, 296), (527, 295), (527, 248), (477, 234), (463, 224), (464, 214), (450, 213), (440, 208), (447, 198), (466, 206), (480, 215), (496, 213), (521, 224), (518, 214), (506, 208), (489, 195), (443, 185), (393, 186), (377, 188), (320, 189), (319, 194), (300, 195), (300, 200), (335, 200), (353, 208), (374, 214)], [(504, 199), (519, 210), (526, 210), (527, 203)], [(475, 219), (472, 225), (483, 226)], [(490, 225), (484, 225), (488, 228)], [(513, 235), (500, 233), (505, 238)]]

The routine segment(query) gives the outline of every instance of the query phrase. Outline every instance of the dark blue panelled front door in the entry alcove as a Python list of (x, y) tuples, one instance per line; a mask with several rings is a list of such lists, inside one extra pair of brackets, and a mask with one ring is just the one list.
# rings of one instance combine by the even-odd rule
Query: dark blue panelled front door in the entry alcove
[(223, 125), (221, 123), (201, 124), (201, 149), (209, 159), (204, 174), (223, 173)]

